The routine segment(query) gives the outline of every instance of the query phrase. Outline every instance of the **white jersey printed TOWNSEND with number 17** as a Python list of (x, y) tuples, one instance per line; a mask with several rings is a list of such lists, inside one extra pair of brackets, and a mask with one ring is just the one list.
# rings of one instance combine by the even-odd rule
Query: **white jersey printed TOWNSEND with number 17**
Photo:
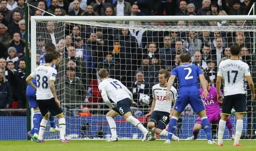
[(244, 94), (243, 78), (249, 75), (250, 68), (247, 63), (232, 59), (221, 61), (217, 76), (224, 77), (224, 96)]

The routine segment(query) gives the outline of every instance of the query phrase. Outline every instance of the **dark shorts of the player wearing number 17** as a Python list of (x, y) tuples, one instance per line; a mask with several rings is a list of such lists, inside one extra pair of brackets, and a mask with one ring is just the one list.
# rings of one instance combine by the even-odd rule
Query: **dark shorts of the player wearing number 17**
[(246, 95), (235, 94), (224, 96), (222, 113), (231, 115), (232, 107), (235, 108), (236, 113), (246, 113)]

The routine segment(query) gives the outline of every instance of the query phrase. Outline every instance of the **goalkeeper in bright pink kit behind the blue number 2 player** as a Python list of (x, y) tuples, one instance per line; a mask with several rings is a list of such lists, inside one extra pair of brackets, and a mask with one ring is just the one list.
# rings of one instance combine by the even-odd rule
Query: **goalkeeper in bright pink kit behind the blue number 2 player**
[[(210, 121), (211, 124), (219, 124), (220, 121), (220, 115), (221, 115), (221, 110), (219, 106), (219, 102), (217, 101), (217, 91), (214, 86), (211, 85), (211, 80), (209, 77), (205, 77), (206, 79), (206, 88), (208, 90), (208, 96), (203, 97), (203, 103), (206, 108), (206, 115)], [(200, 95), (203, 92), (203, 89), (200, 89)], [(222, 94), (220, 92), (220, 94)], [(227, 119), (226, 123), (228, 132), (230, 133), (230, 137), (233, 140), (233, 130), (232, 130), (232, 123), (230, 118)], [(195, 125), (193, 127), (193, 136), (188, 137), (186, 140), (197, 140), (199, 130), (202, 127), (202, 121), (201, 118), (198, 117), (197, 121), (195, 121)]]

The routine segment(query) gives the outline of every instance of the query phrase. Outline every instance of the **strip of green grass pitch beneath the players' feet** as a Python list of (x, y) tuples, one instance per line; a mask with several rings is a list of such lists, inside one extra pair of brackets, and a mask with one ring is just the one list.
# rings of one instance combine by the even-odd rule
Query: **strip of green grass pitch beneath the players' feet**
[[(215, 140), (216, 141), (216, 140)], [(0, 141), (0, 150), (86, 150), (86, 151), (134, 151), (134, 150), (256, 150), (256, 141), (241, 141), (242, 147), (233, 147), (233, 141), (224, 140), (223, 147), (216, 144), (208, 144), (207, 141), (179, 141), (164, 144), (165, 140), (141, 142), (140, 140), (118, 140), (118, 142), (106, 142), (105, 140), (70, 140), (71, 143), (59, 143), (58, 140), (35, 143), (32, 141)]]

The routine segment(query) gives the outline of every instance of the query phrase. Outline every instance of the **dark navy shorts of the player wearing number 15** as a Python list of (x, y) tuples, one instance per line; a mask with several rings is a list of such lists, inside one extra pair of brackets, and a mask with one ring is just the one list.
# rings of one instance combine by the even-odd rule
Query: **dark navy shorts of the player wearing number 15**
[(132, 100), (130, 98), (124, 98), (117, 102), (117, 106), (113, 108), (113, 111), (123, 116), (127, 112), (130, 112), (130, 106), (132, 106)]

